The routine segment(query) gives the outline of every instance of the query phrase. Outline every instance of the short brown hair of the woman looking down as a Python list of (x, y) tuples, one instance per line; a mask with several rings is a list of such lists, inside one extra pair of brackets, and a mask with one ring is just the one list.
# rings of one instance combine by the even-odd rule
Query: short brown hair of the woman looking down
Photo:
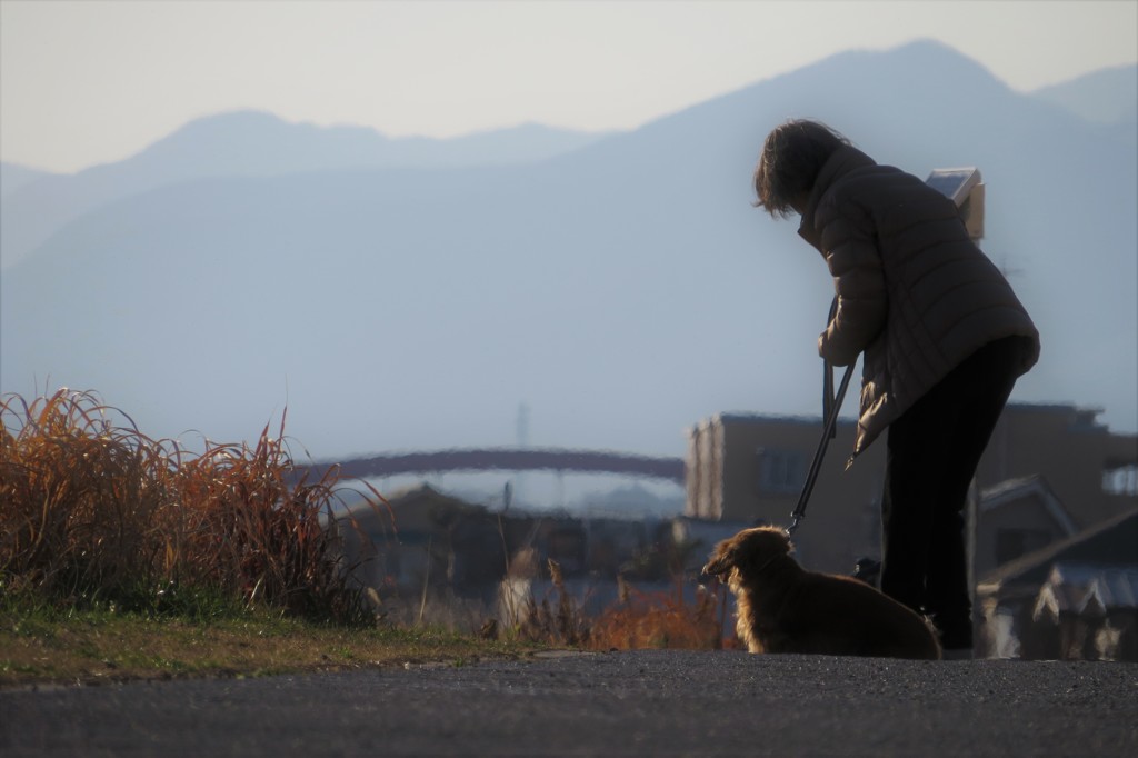
[(794, 120), (776, 126), (762, 143), (754, 167), (756, 205), (772, 216), (789, 216), (793, 203), (814, 188), (830, 156), (850, 141), (817, 121)]

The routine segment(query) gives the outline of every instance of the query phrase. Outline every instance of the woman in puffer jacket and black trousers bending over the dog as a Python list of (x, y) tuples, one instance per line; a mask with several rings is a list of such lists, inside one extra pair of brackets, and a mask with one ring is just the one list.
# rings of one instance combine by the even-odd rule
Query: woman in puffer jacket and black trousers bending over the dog
[(964, 504), (1039, 332), (951, 200), (828, 126), (770, 132), (754, 189), (772, 216), (801, 216), (834, 277), (818, 353), (865, 355), (853, 455), (889, 429), (881, 588), (933, 619), (946, 658), (971, 658)]

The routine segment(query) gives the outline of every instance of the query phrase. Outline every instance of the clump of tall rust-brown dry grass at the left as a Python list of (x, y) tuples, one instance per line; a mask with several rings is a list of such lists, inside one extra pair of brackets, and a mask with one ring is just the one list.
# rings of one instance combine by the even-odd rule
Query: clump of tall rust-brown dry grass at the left
[(91, 393), (0, 397), (0, 592), (155, 613), (208, 613), (220, 598), (368, 620), (322, 527), (338, 471), (308, 483), (283, 427), (273, 438), (266, 425), (254, 447), (191, 453)]

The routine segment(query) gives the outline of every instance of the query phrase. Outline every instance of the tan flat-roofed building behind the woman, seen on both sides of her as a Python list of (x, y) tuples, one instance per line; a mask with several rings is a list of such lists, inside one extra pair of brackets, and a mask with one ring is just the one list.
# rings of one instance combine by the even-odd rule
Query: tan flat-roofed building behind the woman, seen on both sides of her
[[(975, 575), (1138, 505), (1138, 437), (1111, 432), (1099, 411), (1009, 404), (976, 470)], [(846, 470), (855, 423), (840, 421), (795, 533), (815, 570), (849, 572), (880, 552), (885, 444)], [(693, 427), (690, 518), (786, 526), (822, 434), (819, 419), (721, 413)]]

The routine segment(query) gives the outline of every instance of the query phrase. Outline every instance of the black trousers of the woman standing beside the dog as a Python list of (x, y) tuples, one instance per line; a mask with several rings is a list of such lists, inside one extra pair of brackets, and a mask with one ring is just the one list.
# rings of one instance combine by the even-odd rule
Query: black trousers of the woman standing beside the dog
[(981, 347), (889, 427), (881, 590), (932, 617), (946, 650), (972, 646), (964, 505), (1023, 349)]

